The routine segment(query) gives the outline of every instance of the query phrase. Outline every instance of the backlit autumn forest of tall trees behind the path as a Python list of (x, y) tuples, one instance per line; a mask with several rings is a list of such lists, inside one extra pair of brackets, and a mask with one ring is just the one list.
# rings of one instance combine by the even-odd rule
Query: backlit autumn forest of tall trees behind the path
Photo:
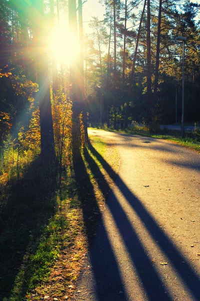
[[(57, 154), (60, 139), (70, 136), (74, 103), (84, 111), (85, 134), (87, 124), (116, 129), (133, 121), (152, 128), (180, 122), (182, 42), (176, 40), (178, 36), (186, 38), (184, 120), (199, 121), (198, 5), (101, 4), (104, 20), (91, 17), (84, 32), (82, 2), (76, 6), (72, 1), (1, 1), (1, 143), (10, 135), (25, 147), (41, 143), (45, 153), (55, 139), (52, 148)], [(66, 37), (63, 26), (68, 26)]]

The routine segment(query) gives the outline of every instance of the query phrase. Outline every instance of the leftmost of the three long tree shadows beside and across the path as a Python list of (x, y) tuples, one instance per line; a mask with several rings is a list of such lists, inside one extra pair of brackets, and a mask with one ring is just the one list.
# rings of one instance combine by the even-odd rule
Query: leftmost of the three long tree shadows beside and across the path
[[(75, 149), (77, 150), (77, 148)], [(72, 152), (72, 154), (74, 154), (74, 152)], [(77, 185), (78, 199), (80, 200), (80, 208), (83, 214), (84, 229), (87, 236), (88, 246), (92, 247), (94, 233), (99, 224), (100, 210), (95, 198), (94, 188), (91, 184), (90, 177), (82, 160), (81, 153), (77, 155), (76, 152), (76, 154), (73, 156), (73, 170)], [(103, 301), (125, 301), (125, 293), (123, 294), (123, 297), (118, 295), (118, 291), (123, 289), (123, 283), (116, 263), (116, 258), (112, 252), (111, 245), (102, 222), (100, 222), (100, 229), (101, 242), (103, 243), (104, 248), (103, 250), (102, 248), (97, 248), (95, 253), (90, 252), (90, 260), (92, 262), (96, 283), (96, 295), (98, 296), (99, 300)], [(102, 273), (102, 271), (98, 269), (99, 262), (104, 262), (105, 265), (107, 264), (109, 266), (109, 268), (106, 270), (106, 273)], [(114, 275), (114, 277), (111, 275)]]

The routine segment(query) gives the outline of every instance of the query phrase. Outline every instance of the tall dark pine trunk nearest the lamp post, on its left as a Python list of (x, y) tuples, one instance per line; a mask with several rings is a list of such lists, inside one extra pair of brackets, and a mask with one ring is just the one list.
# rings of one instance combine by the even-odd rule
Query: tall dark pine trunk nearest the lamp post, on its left
[(156, 46), (156, 59), (155, 59), (155, 80), (153, 88), (153, 104), (157, 102), (157, 87), (158, 87), (158, 72), (159, 72), (159, 48), (160, 48), (160, 31), (161, 31), (161, 10), (162, 0), (159, 0), (159, 13), (157, 24), (157, 46)]

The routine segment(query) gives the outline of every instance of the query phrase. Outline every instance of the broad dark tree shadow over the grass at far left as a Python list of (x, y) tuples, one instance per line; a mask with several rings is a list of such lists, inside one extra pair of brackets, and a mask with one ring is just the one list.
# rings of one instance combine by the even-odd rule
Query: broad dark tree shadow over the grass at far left
[[(36, 253), (43, 230), (55, 212), (56, 175), (52, 171), (52, 166), (44, 166), (37, 157), (18, 183), (1, 196), (4, 206), (0, 212), (0, 299), (9, 298), (10, 294), (21, 299), (26, 294), (32, 277), (29, 255)], [(21, 268), (21, 283), (12, 292)]]

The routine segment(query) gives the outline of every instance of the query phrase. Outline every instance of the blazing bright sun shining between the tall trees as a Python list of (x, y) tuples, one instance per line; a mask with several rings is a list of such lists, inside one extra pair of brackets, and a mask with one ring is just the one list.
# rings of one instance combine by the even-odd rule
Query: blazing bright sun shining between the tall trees
[(69, 65), (78, 59), (79, 45), (76, 35), (71, 33), (65, 24), (54, 27), (50, 39), (50, 49), (57, 62)]

